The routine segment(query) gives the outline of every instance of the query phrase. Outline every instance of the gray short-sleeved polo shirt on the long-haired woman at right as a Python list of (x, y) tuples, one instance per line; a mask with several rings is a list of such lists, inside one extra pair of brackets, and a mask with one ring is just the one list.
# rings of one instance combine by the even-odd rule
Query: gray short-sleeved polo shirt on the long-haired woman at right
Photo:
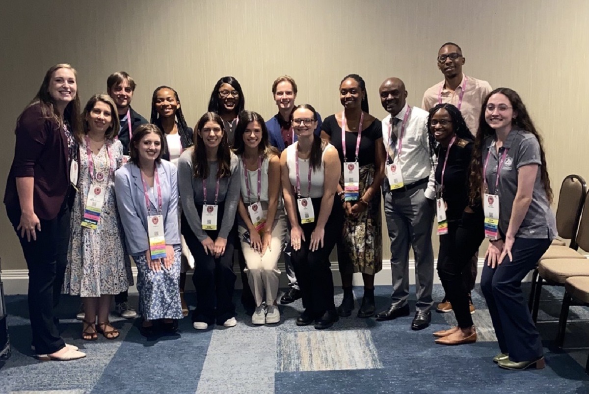
[[(507, 135), (507, 140), (503, 147), (495, 148), (495, 135), (485, 139), (482, 151), (482, 160), (485, 163), (487, 153), (490, 151), (489, 163), (487, 165), (487, 184), (489, 193), (499, 194), (499, 230), (503, 234), (507, 233), (509, 218), (511, 218), (511, 208), (517, 193), (518, 170), (523, 165), (538, 164), (541, 165), (540, 144), (534, 134), (523, 130), (512, 130)], [(498, 191), (495, 191), (495, 180), (497, 180), (497, 167), (499, 158), (502, 157), (504, 150), (507, 150), (505, 162), (501, 168), (499, 176)], [(554, 239), (557, 235), (556, 218), (550, 208), (544, 184), (541, 180), (541, 172), (538, 169), (534, 191), (532, 193), (532, 202), (530, 208), (525, 214), (519, 230), (515, 237), (537, 238), (537, 239)]]

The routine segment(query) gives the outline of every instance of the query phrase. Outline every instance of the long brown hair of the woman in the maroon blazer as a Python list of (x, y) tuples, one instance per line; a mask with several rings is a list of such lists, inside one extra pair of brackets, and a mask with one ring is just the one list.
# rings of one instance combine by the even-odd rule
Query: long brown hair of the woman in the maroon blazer
[(55, 106), (55, 99), (51, 97), (51, 94), (49, 94), (49, 83), (51, 82), (51, 78), (53, 78), (55, 71), (60, 68), (71, 69), (71, 71), (74, 73), (77, 84), (78, 73), (73, 67), (71, 67), (71, 65), (67, 63), (56, 64), (50, 67), (47, 72), (45, 72), (45, 77), (43, 78), (43, 82), (41, 82), (41, 87), (39, 88), (37, 95), (35, 95), (33, 100), (29, 102), (27, 108), (31, 107), (32, 105), (39, 104), (39, 106), (41, 106), (42, 114), (45, 118), (51, 119), (57, 123), (59, 127), (61, 127), (64, 122), (67, 123), (70, 126), (72, 135), (79, 143), (81, 141), (80, 133), (82, 130), (82, 116), (80, 114), (80, 94), (77, 87), (74, 100), (70, 101), (67, 107), (65, 107), (63, 118), (59, 116), (59, 112)]

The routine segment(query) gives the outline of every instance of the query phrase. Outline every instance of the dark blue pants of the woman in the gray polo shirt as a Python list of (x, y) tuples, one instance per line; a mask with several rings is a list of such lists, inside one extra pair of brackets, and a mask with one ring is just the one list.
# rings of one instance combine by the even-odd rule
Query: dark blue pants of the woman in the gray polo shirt
[(548, 246), (550, 239), (516, 238), (511, 249), (512, 261), (505, 256), (494, 269), (485, 261), (482, 270), (481, 289), (499, 349), (501, 353), (509, 353), (509, 359), (514, 362), (536, 360), (543, 353), (540, 333), (521, 291), (521, 281), (534, 269)]

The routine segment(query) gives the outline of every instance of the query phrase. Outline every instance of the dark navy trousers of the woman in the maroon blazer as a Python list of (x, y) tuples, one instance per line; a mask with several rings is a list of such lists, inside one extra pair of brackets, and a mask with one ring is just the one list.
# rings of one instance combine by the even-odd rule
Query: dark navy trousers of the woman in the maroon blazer
[[(21, 220), (20, 208), (6, 207), (6, 213), (16, 231)], [(66, 217), (68, 220), (65, 220)], [(65, 346), (54, 321), (54, 289), (57, 287), (55, 282), (59, 247), (65, 240), (65, 234), (69, 241), (70, 220), (67, 200), (64, 200), (57, 217), (41, 220), (41, 231), (36, 233), (37, 240), (31, 239), (29, 242), (26, 236), (21, 238), (20, 231), (16, 231), (29, 270), (28, 306), (32, 345), (39, 354), (55, 353)], [(61, 276), (61, 283), (63, 280)]]

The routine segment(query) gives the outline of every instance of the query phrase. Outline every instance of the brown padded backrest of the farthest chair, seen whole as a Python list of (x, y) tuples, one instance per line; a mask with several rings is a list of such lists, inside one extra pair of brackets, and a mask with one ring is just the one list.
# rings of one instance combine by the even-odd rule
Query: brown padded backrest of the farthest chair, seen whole
[[(564, 239), (570, 239), (570, 247), (577, 249), (577, 229), (583, 205), (587, 196), (587, 184), (578, 175), (570, 175), (562, 181), (560, 194), (558, 194), (558, 207), (556, 210), (556, 227), (558, 235)], [(589, 214), (589, 210), (586, 211)], [(589, 217), (587, 218), (589, 226)], [(588, 228), (589, 230), (589, 228)], [(589, 233), (587, 234), (589, 236)], [(589, 243), (589, 242), (588, 242)]]

